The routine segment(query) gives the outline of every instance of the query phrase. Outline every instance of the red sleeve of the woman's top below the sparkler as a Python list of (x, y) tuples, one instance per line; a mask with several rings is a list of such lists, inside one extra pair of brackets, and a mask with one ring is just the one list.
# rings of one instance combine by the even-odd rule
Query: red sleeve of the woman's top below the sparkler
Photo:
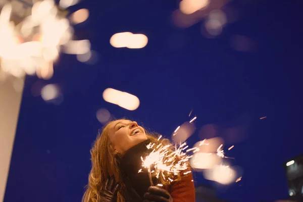
[(192, 173), (182, 176), (181, 181), (172, 182), (167, 188), (173, 202), (195, 202), (195, 189)]

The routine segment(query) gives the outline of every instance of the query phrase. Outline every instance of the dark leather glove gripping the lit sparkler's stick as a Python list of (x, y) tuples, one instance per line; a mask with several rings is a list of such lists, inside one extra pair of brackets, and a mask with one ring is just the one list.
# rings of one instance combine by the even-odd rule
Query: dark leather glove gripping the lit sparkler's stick
[(167, 190), (158, 186), (150, 186), (144, 194), (144, 201), (173, 202), (173, 198)]

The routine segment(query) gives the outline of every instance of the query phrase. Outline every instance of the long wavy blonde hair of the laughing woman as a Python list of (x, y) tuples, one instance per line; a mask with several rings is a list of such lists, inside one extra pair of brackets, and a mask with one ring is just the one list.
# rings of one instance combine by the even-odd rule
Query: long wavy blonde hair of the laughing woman
[[(113, 122), (113, 121), (112, 121)], [(105, 186), (105, 180), (108, 176), (114, 176), (116, 182), (120, 183), (119, 190), (117, 192), (117, 202), (124, 202), (125, 199), (122, 195), (123, 190), (125, 189), (125, 184), (123, 183), (122, 175), (118, 167), (118, 159), (114, 155), (114, 147), (111, 141), (109, 140), (108, 133), (110, 125), (112, 122), (109, 122), (104, 126), (102, 132), (99, 131), (96, 140), (90, 150), (91, 154), (91, 171), (88, 176), (88, 184), (86, 185), (85, 193), (82, 197), (82, 202), (101, 202), (102, 196), (100, 192)], [(161, 139), (158, 141), (160, 134), (146, 132), (148, 139), (155, 145), (168, 145), (171, 144), (169, 139)], [(169, 147), (169, 151), (172, 152), (173, 147)], [(167, 177), (174, 179), (174, 181), (179, 181), (181, 179), (180, 174), (173, 175), (166, 173)], [(160, 175), (158, 182), (167, 186), (170, 184), (169, 181), (163, 179)]]

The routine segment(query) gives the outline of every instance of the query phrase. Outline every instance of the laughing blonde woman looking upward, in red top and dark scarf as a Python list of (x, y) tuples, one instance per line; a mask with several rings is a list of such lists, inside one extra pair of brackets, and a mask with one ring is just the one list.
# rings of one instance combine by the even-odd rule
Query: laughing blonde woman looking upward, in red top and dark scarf
[(148, 143), (170, 143), (168, 139), (157, 139), (155, 134), (146, 133), (134, 121), (120, 119), (108, 123), (90, 151), (92, 168), (82, 201), (195, 201), (191, 173), (174, 175), (171, 177), (174, 180), (172, 182), (162, 176), (153, 176), (154, 184), (163, 185), (159, 187), (151, 186), (146, 171), (138, 172), (142, 168), (141, 157), (150, 152), (146, 147)]

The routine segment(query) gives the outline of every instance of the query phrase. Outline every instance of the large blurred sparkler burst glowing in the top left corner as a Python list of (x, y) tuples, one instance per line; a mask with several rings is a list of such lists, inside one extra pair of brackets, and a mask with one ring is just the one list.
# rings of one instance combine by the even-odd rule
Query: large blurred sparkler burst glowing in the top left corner
[[(49, 79), (60, 52), (89, 53), (88, 40), (72, 40), (74, 31), (66, 18), (65, 9), (76, 3), (61, 0), (59, 7), (53, 0), (0, 2), (0, 72), (19, 78), (36, 74)], [(75, 24), (87, 17), (87, 11), (78, 11), (71, 19)]]

